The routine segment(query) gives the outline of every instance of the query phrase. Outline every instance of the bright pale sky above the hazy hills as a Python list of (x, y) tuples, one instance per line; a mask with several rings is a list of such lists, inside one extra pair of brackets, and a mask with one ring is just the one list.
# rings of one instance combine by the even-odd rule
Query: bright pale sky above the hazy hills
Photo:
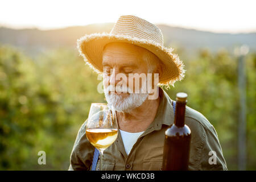
[(137, 15), (151, 23), (213, 32), (256, 32), (256, 1), (1, 0), (0, 26), (42, 30), (115, 22)]

